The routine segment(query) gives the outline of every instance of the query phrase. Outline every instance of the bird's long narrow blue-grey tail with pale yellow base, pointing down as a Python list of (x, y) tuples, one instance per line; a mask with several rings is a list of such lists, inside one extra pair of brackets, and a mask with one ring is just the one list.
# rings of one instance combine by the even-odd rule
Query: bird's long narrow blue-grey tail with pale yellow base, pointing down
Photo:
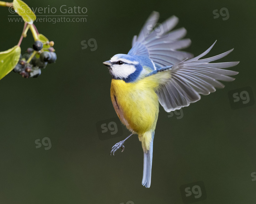
[(144, 151), (144, 166), (143, 166), (143, 178), (142, 185), (146, 188), (150, 187), (151, 184), (151, 169), (152, 169), (152, 158), (153, 158), (153, 140), (155, 132), (146, 132), (140, 141)]

